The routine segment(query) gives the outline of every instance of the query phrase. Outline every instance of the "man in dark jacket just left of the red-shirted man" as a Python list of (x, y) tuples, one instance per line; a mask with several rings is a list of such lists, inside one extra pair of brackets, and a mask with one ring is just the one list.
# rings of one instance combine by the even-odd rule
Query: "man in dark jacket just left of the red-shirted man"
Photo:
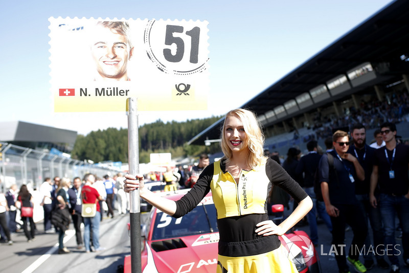
[(82, 236), (81, 236), (81, 223), (82, 223), (82, 216), (81, 216), (81, 188), (82, 188), (82, 181), (81, 178), (76, 177), (74, 178), (73, 186), (69, 188), (68, 195), (70, 199), (70, 213), (71, 217), (73, 218), (73, 223), (75, 227), (75, 236), (77, 239), (77, 248), (82, 249)]

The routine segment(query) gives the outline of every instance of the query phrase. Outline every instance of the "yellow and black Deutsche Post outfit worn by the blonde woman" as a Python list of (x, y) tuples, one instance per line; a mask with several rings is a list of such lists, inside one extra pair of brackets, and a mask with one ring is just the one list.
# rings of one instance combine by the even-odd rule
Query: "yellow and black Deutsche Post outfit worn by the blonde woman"
[(192, 190), (176, 202), (173, 217), (190, 212), (212, 190), (220, 234), (217, 272), (296, 273), (277, 235), (255, 233), (256, 224), (268, 220), (267, 198), (273, 184), (296, 202), (307, 197), (300, 185), (270, 158), (256, 169), (241, 171), (238, 183), (226, 172), (224, 161), (217, 161), (203, 170)]

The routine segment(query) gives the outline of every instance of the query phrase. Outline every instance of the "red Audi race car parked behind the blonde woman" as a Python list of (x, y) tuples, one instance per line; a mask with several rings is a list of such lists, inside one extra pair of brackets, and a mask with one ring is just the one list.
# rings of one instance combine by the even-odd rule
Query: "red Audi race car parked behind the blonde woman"
[[(184, 194), (186, 191), (165, 197), (179, 200)], [(142, 272), (216, 272), (219, 233), (211, 193), (178, 219), (153, 208), (142, 225), (141, 236)], [(318, 255), (305, 232), (279, 238), (299, 272), (321, 272)], [(131, 272), (130, 256), (125, 257), (124, 272)]]

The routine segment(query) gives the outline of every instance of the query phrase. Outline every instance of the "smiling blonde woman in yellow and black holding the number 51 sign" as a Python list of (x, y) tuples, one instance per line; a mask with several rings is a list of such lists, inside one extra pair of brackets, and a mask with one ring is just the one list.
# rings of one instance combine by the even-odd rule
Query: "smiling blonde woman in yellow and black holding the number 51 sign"
[[(178, 218), (212, 190), (220, 234), (217, 272), (298, 272), (285, 256), (278, 236), (308, 213), (312, 201), (276, 161), (263, 155), (263, 142), (254, 113), (232, 110), (224, 119), (221, 133), (224, 157), (206, 167), (184, 197), (175, 202), (155, 196), (144, 187), (142, 176), (127, 175), (125, 191), (139, 187), (142, 198)], [(267, 215), (266, 199), (273, 184), (299, 202), (279, 225)]]

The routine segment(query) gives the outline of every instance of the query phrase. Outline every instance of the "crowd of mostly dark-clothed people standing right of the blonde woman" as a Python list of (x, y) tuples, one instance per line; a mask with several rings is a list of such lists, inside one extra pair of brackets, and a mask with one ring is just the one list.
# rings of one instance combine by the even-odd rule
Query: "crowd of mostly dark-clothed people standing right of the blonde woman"
[[(377, 142), (371, 146), (366, 143), (367, 126), (350, 124), (337, 123), (341, 128), (325, 139), (325, 149), (311, 140), (306, 155), (293, 147), (281, 162), (313, 199), (313, 208), (299, 224), (308, 223), (310, 239), (317, 245), (317, 219), (325, 223), (339, 272), (350, 272), (349, 265), (357, 272), (375, 265), (403, 272), (409, 267), (409, 145), (397, 139), (393, 122), (379, 124)], [(280, 163), (277, 155), (271, 158)], [(285, 192), (273, 187), (269, 205), (288, 206), (288, 200)], [(350, 247), (345, 246), (348, 228), (353, 232)], [(396, 240), (401, 240), (403, 251), (397, 250)]]

